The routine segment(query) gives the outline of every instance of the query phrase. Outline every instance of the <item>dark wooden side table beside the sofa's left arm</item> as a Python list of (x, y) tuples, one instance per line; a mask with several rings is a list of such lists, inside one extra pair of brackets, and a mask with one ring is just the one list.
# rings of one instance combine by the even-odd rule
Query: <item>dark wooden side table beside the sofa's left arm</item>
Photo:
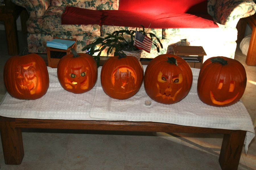
[(5, 0), (5, 5), (0, 6), (0, 20), (5, 23), (5, 33), (9, 55), (19, 54), (19, 43), (17, 35), (16, 20), (21, 14), (22, 32), (24, 33), (24, 23), (28, 19), (28, 14), (25, 8), (15, 5), (11, 0)]

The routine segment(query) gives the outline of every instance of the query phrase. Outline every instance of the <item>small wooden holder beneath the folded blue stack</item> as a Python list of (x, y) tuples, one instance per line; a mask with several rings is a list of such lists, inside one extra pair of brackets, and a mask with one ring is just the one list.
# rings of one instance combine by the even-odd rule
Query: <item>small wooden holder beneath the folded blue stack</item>
[[(59, 39), (59, 37), (54, 37), (54, 39)], [(66, 39), (66, 40), (77, 41), (77, 39), (75, 39), (75, 38)], [(61, 57), (65, 56), (67, 54), (71, 54), (71, 48), (74, 48), (76, 50), (76, 42), (73, 45), (71, 45), (67, 50), (53, 48), (53, 47), (46, 47), (48, 66), (52, 67), (52, 68), (57, 68)]]

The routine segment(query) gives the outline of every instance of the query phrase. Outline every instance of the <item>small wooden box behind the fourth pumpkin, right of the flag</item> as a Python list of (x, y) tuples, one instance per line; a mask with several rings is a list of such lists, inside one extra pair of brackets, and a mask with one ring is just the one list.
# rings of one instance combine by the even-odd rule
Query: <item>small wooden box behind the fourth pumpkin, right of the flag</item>
[(202, 46), (172, 46), (174, 55), (185, 59), (192, 68), (200, 69), (207, 54)]

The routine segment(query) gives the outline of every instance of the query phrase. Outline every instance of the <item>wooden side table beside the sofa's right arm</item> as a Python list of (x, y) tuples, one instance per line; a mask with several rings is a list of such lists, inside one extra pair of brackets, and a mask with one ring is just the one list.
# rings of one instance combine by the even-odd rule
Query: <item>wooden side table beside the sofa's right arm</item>
[(251, 29), (251, 41), (249, 44), (248, 52), (247, 52), (247, 57), (245, 60), (245, 63), (247, 65), (251, 66), (256, 66), (256, 14), (246, 17), (246, 18), (241, 18), (238, 22), (237, 29), (238, 29), (238, 41), (240, 42), (241, 39), (243, 39), (244, 34), (245, 34), (245, 29), (246, 29), (246, 24), (248, 24)]

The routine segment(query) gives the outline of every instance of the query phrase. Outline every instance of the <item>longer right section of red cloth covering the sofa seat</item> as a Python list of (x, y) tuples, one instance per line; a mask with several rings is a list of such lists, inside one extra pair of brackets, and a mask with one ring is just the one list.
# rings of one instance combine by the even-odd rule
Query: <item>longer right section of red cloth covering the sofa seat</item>
[[(216, 28), (218, 25), (208, 14), (142, 13), (104, 10), (102, 25), (150, 28)], [(125, 18), (125, 20), (124, 20)]]

